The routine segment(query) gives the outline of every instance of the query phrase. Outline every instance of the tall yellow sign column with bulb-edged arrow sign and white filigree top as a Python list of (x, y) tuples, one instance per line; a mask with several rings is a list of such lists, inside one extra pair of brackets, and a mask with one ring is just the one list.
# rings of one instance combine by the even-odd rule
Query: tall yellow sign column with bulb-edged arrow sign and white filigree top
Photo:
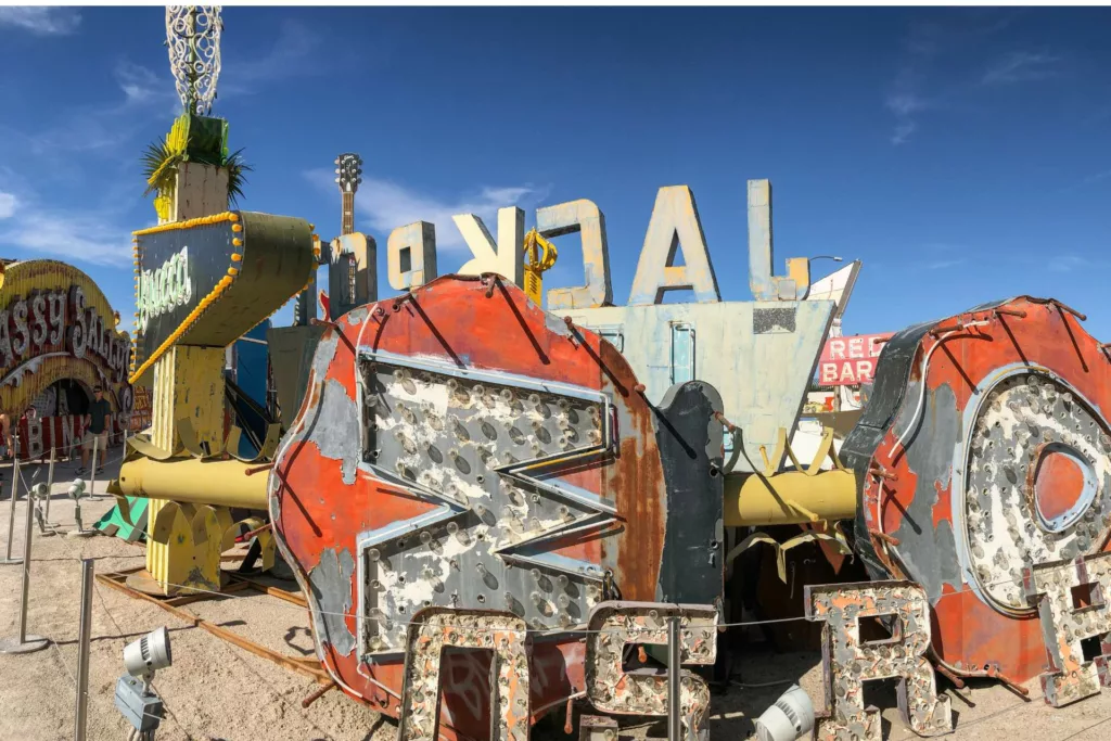
[(159, 226), (134, 232), (131, 380), (153, 387), (153, 412), (119, 487), (151, 499), (147, 569), (169, 594), (219, 590), (230, 508), (266, 508), (264, 487), (261, 497), (242, 491), (256, 479), (224, 455), (238, 448), (226, 445), (224, 350), (304, 286), (313, 258), (308, 222), (228, 210), (249, 168), (228, 152), (228, 122), (208, 116), (219, 8), (171, 7), (166, 19), (183, 112), (146, 158)]

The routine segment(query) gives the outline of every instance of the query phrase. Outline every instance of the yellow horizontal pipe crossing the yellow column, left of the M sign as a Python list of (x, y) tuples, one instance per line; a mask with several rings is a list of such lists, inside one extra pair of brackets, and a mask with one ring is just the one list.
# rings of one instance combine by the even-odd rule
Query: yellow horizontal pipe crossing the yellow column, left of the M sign
[(128, 497), (264, 510), (268, 477), (247, 475), (248, 468), (247, 463), (237, 460), (139, 458), (120, 468), (119, 482), (120, 490)]

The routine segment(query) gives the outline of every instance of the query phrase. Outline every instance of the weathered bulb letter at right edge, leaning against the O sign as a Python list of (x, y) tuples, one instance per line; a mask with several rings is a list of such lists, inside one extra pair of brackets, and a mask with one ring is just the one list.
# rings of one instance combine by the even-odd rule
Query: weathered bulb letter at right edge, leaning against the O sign
[[(1041, 675), (1045, 702), (1060, 708), (1111, 687), (1111, 553), (1027, 567), (1022, 585), (1038, 604), (1050, 671)], [(1090, 604), (1078, 605), (1074, 590), (1087, 588)], [(1099, 637), (1100, 652), (1084, 661), (1081, 641)]]

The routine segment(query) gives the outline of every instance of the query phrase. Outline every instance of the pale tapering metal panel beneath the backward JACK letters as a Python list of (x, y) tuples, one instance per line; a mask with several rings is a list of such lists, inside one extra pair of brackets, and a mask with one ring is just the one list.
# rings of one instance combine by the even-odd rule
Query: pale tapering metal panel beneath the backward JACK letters
[[(553, 311), (600, 332), (620, 332), (622, 354), (659, 403), (672, 383), (672, 344), (661, 328), (697, 333), (694, 378), (722, 397), (725, 417), (743, 430), (735, 471), (760, 468), (760, 447), (774, 448), (794, 427), (833, 318), (832, 301), (665, 303)], [(788, 312), (769, 314), (767, 312)], [(792, 329), (793, 326), (793, 329)]]

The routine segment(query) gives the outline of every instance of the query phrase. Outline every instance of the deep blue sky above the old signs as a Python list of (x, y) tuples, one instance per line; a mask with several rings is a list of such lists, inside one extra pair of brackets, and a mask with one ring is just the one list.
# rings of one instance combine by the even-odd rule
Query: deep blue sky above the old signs
[[(179, 103), (161, 8), (0, 8), (0, 256), (74, 262), (130, 314), (139, 157)], [(224, 8), (214, 113), (241, 206), (339, 232), (577, 198), (605, 214), (617, 302), (661, 186), (694, 191), (723, 298), (748, 292), (745, 184), (783, 259), (859, 258), (847, 332), (1018, 293), (1111, 340), (1111, 11)], [(547, 284), (581, 282), (575, 238)], [(384, 276), (384, 254), (379, 256)], [(817, 263), (832, 268), (832, 263)], [(390, 289), (383, 286), (382, 294)]]

